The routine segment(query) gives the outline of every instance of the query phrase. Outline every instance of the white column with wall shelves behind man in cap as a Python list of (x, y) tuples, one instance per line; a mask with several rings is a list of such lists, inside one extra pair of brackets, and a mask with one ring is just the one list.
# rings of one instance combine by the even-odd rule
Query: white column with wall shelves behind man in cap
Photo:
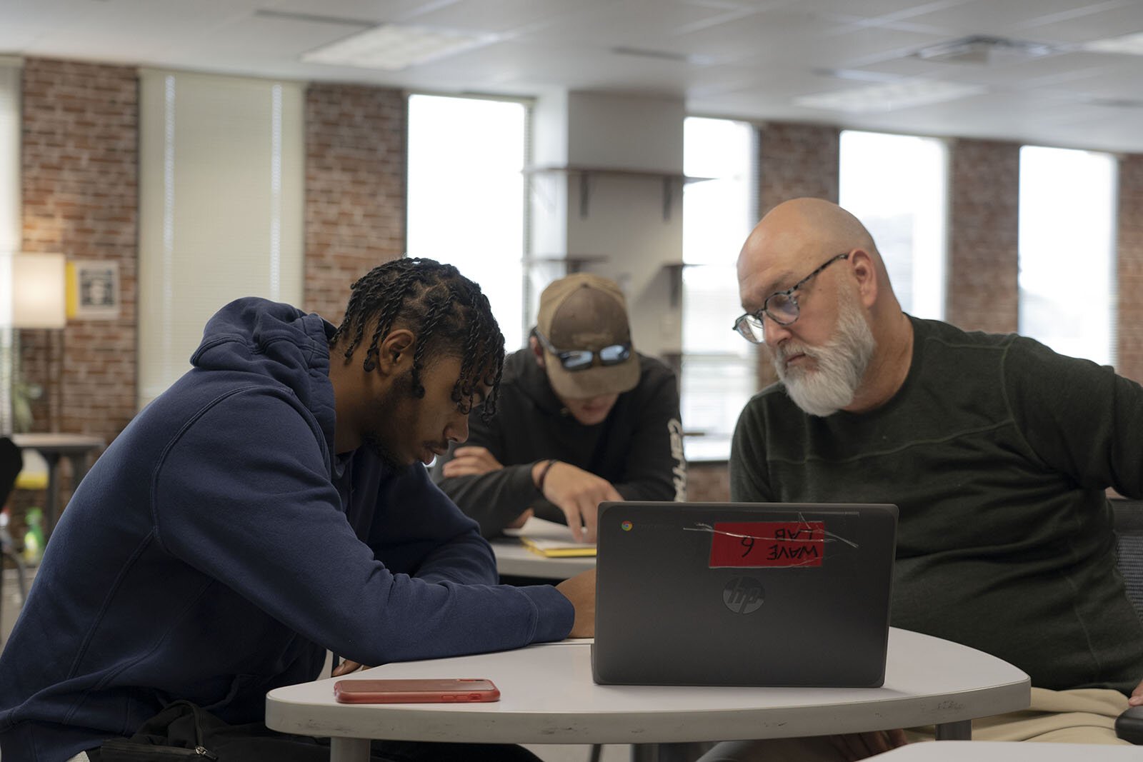
[[(636, 347), (653, 355), (681, 346), (665, 265), (682, 260), (682, 189), (669, 181), (664, 195), (664, 177), (682, 175), (685, 115), (681, 98), (584, 91), (542, 96), (534, 111), (534, 165), (569, 171), (533, 176), (531, 250), (584, 258), (580, 270), (618, 281)], [(577, 174), (583, 168), (638, 174)]]

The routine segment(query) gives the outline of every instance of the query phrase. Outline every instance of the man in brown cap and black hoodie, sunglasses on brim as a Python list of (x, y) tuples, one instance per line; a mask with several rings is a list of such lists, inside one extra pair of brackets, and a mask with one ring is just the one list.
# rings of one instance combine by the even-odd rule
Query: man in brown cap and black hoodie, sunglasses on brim
[(486, 537), (535, 514), (594, 542), (599, 503), (685, 499), (686, 473), (674, 372), (636, 352), (618, 284), (575, 273), (541, 294), (496, 415), (471, 418), (433, 479)]

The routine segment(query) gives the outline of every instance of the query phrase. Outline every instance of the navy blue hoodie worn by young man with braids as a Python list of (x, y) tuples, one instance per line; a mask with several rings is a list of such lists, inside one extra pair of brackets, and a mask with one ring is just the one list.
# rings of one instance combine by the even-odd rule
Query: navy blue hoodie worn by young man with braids
[(226, 305), (87, 474), (0, 656), (6, 762), (66, 760), (179, 698), (261, 721), (326, 649), (377, 665), (567, 635), (567, 599), (496, 585), (424, 466), (334, 454), (331, 331)]

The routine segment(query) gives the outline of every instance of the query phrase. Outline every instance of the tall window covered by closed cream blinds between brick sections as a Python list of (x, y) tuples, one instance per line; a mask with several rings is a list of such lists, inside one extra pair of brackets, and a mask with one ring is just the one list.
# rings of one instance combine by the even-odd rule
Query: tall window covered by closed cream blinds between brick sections
[(139, 407), (242, 296), (301, 304), (303, 86), (147, 70), (139, 83)]

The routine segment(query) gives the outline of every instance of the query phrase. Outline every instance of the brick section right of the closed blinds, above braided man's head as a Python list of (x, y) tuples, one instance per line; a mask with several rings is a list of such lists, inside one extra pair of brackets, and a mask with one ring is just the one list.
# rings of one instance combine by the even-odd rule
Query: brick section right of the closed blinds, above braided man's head
[(306, 90), (304, 308), (334, 323), (350, 283), (405, 251), (406, 104), (399, 90)]

